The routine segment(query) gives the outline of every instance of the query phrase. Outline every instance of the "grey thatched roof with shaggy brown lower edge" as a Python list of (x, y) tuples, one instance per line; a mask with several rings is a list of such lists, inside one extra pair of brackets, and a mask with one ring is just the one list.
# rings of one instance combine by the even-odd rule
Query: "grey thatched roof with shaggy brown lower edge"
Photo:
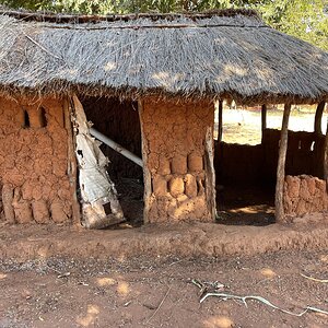
[(328, 54), (251, 11), (80, 20), (7, 13), (0, 89), (313, 103), (328, 98)]

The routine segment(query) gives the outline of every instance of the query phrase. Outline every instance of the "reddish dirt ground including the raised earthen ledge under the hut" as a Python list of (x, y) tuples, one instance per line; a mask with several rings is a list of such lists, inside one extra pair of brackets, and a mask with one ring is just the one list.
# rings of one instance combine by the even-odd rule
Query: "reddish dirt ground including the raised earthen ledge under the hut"
[(295, 313), (328, 311), (324, 216), (267, 226), (2, 225), (0, 241), (1, 328), (328, 326), (327, 315), (296, 317), (257, 301), (200, 304), (191, 283), (219, 281), (226, 293)]

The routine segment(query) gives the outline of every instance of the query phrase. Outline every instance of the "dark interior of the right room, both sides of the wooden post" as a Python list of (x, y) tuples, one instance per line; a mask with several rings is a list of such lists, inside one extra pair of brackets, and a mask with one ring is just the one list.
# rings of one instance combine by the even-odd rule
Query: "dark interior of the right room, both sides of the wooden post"
[[(215, 141), (218, 220), (225, 224), (274, 223), (280, 130), (265, 129), (257, 145)], [(324, 178), (325, 136), (289, 131), (285, 175)]]

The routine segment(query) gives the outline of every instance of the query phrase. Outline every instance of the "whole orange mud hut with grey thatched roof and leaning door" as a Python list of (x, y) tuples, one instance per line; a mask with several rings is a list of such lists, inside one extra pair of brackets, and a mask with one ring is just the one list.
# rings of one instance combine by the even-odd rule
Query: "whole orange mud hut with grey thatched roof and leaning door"
[[(261, 176), (253, 179), (271, 167), (277, 220), (297, 214), (304, 195), (305, 212), (328, 209), (327, 138), (318, 130), (288, 133), (292, 104), (319, 104), (319, 121), (328, 54), (271, 28), (254, 11), (75, 16), (2, 10), (0, 94), (7, 221), (102, 226), (122, 219), (106, 156), (91, 134), (118, 141), (128, 151), (110, 147), (137, 163), (103, 149), (109, 175), (143, 175), (144, 222), (214, 221), (214, 102), (222, 113), (224, 98), (262, 105), (260, 154), (244, 151), (235, 174), (248, 174), (246, 162), (261, 163)], [(278, 103), (285, 104), (282, 129), (269, 131), (266, 106)], [(315, 142), (313, 169), (294, 174), (316, 177), (285, 177), (289, 141), (291, 151)], [(302, 161), (298, 150), (294, 157)], [(218, 169), (221, 151), (215, 147)]]

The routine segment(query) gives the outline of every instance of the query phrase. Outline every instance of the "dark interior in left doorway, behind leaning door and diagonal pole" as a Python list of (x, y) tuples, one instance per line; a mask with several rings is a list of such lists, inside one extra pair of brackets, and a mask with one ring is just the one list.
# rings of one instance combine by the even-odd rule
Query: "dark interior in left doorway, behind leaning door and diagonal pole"
[[(81, 103), (96, 130), (141, 157), (138, 103), (114, 97), (81, 97)], [(101, 150), (110, 161), (107, 172), (117, 188), (125, 218), (131, 225), (140, 225), (143, 221), (142, 168), (104, 143)]]

